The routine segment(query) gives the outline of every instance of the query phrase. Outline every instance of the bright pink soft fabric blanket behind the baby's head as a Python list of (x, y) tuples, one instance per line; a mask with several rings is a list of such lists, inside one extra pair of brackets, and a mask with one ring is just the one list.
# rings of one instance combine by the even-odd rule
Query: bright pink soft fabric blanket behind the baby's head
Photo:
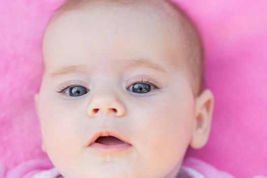
[[(9, 168), (46, 157), (33, 97), (42, 33), (61, 2), (0, 0), (0, 162)], [(201, 31), (205, 86), (215, 94), (210, 140), (187, 155), (236, 177), (267, 175), (267, 1), (175, 2)]]

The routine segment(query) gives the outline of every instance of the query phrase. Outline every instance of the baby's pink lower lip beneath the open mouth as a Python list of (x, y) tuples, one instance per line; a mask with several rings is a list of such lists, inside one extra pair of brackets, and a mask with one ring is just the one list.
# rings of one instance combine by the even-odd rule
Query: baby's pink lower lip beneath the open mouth
[(107, 145), (94, 142), (90, 144), (89, 147), (97, 151), (117, 152), (128, 150), (132, 147), (132, 145), (129, 143)]

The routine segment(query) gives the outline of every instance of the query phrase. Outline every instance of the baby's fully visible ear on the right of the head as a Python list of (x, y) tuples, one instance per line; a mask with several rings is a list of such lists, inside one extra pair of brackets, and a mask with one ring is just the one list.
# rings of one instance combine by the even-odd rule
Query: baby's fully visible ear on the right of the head
[(190, 145), (194, 149), (200, 149), (209, 139), (212, 125), (214, 96), (210, 90), (204, 90), (196, 98), (195, 108), (195, 127)]

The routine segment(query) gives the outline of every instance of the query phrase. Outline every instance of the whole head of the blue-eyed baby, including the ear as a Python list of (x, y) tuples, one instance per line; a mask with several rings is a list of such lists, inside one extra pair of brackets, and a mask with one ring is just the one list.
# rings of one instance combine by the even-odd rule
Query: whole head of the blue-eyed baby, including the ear
[(201, 40), (163, 0), (71, 0), (43, 39), (43, 150), (66, 178), (175, 177), (210, 133)]

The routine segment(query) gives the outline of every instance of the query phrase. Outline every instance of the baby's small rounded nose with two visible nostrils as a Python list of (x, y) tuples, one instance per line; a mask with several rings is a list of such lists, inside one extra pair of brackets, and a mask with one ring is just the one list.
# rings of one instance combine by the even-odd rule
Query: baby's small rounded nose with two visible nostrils
[(125, 106), (113, 95), (95, 95), (87, 107), (87, 114), (95, 117), (99, 112), (104, 114), (113, 113), (117, 117), (125, 115)]

